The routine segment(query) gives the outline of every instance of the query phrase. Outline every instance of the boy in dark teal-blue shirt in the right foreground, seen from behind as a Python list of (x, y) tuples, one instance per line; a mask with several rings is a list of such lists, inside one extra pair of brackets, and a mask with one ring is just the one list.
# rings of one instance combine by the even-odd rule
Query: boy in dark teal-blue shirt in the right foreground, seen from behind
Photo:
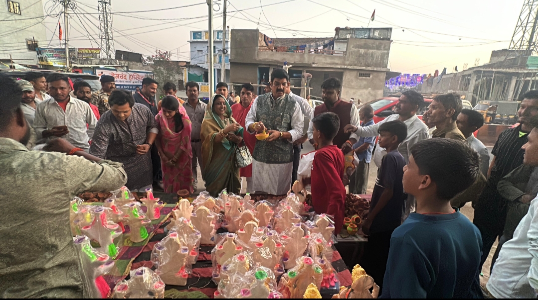
[(404, 167), (404, 189), (416, 213), (392, 233), (381, 298), (482, 298), (480, 232), (450, 199), (478, 178), (467, 145), (434, 138), (416, 143)]

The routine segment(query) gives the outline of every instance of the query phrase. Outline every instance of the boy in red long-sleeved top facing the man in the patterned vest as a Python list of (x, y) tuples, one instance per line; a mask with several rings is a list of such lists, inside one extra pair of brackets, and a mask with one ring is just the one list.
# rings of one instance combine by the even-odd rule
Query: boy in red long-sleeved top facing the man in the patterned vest
[[(322, 113), (313, 120), (313, 138), (318, 145), (312, 163), (312, 205), (316, 214), (334, 216), (335, 235), (344, 224), (344, 154), (332, 143), (339, 126), (335, 113)], [(319, 128), (319, 130), (317, 129)]]

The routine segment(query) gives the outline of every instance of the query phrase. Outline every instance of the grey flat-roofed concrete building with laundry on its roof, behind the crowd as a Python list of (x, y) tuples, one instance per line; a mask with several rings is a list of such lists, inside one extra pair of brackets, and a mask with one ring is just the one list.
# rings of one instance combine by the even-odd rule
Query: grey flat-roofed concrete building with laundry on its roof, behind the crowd
[(336, 28), (334, 37), (272, 39), (258, 30), (232, 30), (230, 80), (263, 84), (287, 62), (294, 93), (308, 94), (306, 72), (312, 74), (312, 96), (321, 97), (322, 82), (336, 77), (342, 81), (342, 99), (365, 103), (383, 97), (391, 34), (392, 28), (348, 27)]

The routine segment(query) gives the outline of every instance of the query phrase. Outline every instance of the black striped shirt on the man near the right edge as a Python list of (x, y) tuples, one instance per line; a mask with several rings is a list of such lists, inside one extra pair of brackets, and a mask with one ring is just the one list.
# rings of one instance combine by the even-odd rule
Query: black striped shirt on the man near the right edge
[(497, 143), (491, 153), (495, 156), (495, 165), (491, 169), (490, 182), (497, 182), (512, 172), (516, 167), (523, 164), (523, 154), (521, 149), (528, 141), (527, 134), (519, 136), (521, 125), (516, 128), (508, 128), (499, 135)]

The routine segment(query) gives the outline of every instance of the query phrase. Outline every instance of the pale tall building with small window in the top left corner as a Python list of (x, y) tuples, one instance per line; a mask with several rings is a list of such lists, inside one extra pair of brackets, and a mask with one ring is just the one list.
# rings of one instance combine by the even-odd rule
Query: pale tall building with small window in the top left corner
[(41, 0), (0, 2), (0, 59), (37, 65), (36, 48), (46, 46), (45, 15)]

